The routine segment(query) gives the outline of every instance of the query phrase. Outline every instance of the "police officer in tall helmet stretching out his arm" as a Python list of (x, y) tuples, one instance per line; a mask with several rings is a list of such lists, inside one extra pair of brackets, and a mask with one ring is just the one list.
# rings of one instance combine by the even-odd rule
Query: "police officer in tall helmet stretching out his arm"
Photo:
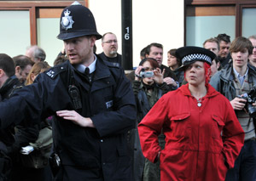
[(55, 180), (131, 180), (125, 139), (136, 119), (131, 84), (121, 68), (93, 54), (102, 36), (88, 8), (64, 8), (60, 30), (69, 61), (0, 103), (0, 127), (55, 115)]

